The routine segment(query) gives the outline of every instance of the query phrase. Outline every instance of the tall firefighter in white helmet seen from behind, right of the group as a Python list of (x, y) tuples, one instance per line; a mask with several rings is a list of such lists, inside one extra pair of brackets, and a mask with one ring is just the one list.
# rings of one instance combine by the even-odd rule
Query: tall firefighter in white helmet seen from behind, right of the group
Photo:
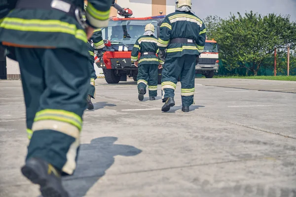
[(159, 58), (165, 60), (162, 70), (162, 111), (175, 105), (174, 92), (181, 74), (182, 111), (194, 103), (195, 62), (203, 52), (206, 29), (191, 11), (191, 0), (177, 0), (176, 12), (165, 17), (158, 38)]

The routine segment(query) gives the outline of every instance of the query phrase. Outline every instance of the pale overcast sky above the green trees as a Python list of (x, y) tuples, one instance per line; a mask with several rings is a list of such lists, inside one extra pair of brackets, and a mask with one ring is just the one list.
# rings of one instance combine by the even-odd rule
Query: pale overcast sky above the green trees
[(230, 12), (236, 14), (253, 10), (264, 15), (290, 14), (291, 20), (296, 21), (296, 0), (192, 0), (192, 9), (201, 19), (208, 15), (225, 18)]

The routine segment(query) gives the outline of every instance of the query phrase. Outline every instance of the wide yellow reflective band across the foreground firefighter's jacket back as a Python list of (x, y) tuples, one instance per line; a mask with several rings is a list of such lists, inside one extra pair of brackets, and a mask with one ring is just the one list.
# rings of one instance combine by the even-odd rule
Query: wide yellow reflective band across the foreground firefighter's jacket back
[(87, 42), (86, 33), (76, 28), (76, 25), (59, 20), (39, 20), (39, 19), (20, 19), (4, 18), (0, 27), (7, 30), (24, 32), (58, 32), (74, 35), (77, 39)]

